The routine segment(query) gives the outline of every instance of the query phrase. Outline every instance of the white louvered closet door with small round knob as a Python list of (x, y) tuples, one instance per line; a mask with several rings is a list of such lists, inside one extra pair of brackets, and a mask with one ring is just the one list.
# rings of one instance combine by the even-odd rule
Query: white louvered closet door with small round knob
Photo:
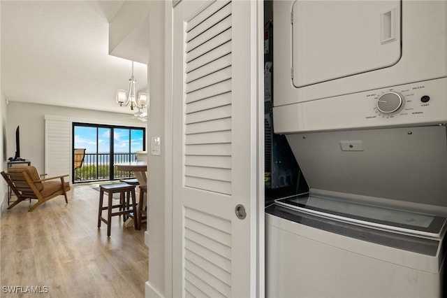
[(173, 297), (257, 295), (257, 5), (173, 8)]

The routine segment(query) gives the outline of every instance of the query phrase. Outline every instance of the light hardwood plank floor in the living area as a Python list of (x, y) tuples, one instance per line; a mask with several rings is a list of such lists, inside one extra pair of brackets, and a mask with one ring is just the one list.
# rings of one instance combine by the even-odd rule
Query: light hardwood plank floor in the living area
[[(0, 297), (144, 297), (149, 275), (146, 224), (137, 231), (114, 216), (108, 238), (107, 225), (97, 227), (98, 201), (98, 191), (75, 185), (68, 204), (61, 196), (31, 213), (28, 202), (4, 210)], [(46, 293), (13, 294), (5, 288), (14, 286), (22, 286), (20, 292), (34, 287)]]

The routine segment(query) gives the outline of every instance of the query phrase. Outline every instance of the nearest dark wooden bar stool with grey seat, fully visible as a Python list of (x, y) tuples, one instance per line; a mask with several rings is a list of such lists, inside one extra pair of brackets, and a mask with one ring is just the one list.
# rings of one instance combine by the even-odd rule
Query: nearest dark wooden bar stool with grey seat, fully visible
[[(108, 204), (103, 206), (104, 192), (108, 193)], [(119, 193), (119, 204), (113, 205), (113, 194)], [(131, 204), (132, 200), (132, 204)], [(132, 208), (131, 208), (132, 207)], [(112, 212), (113, 208), (119, 208), (118, 212)], [(107, 219), (103, 218), (103, 210), (107, 210)], [(137, 229), (137, 221), (134, 216), (137, 214), (135, 208), (135, 186), (127, 183), (112, 183), (100, 185), (99, 187), (99, 208), (98, 208), (98, 227), (101, 227), (101, 221), (107, 225), (107, 236), (110, 237), (110, 228), (112, 223), (112, 216), (128, 215), (133, 218), (135, 229)]]

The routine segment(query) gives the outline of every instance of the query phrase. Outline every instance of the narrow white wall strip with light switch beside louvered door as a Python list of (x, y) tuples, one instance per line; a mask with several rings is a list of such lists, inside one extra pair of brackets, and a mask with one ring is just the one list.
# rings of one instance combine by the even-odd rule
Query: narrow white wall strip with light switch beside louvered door
[[(170, 297), (170, 264), (165, 264), (166, 257), (171, 255), (170, 245), (166, 244), (165, 231), (169, 229), (172, 218), (166, 215), (171, 210), (169, 194), (166, 191), (166, 177), (172, 173), (170, 164), (170, 141), (166, 129), (172, 129), (172, 117), (165, 115), (165, 105), (171, 101), (169, 92), (165, 92), (165, 59), (170, 57), (165, 52), (165, 4), (170, 6), (171, 1), (151, 1), (149, 10), (149, 64), (147, 66), (147, 80), (149, 86), (150, 108), (147, 142), (148, 171), (148, 223), (147, 233), (149, 246), (149, 281), (146, 284), (145, 297)], [(168, 127), (166, 127), (168, 126)], [(152, 155), (150, 141), (153, 136), (161, 137), (161, 155)], [(168, 288), (168, 290), (166, 290)]]

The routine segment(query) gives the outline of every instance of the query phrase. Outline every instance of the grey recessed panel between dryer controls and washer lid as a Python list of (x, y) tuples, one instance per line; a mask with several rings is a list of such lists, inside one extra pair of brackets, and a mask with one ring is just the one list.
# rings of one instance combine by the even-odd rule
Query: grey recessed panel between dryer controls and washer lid
[(447, 207), (445, 126), (288, 134), (314, 190)]

